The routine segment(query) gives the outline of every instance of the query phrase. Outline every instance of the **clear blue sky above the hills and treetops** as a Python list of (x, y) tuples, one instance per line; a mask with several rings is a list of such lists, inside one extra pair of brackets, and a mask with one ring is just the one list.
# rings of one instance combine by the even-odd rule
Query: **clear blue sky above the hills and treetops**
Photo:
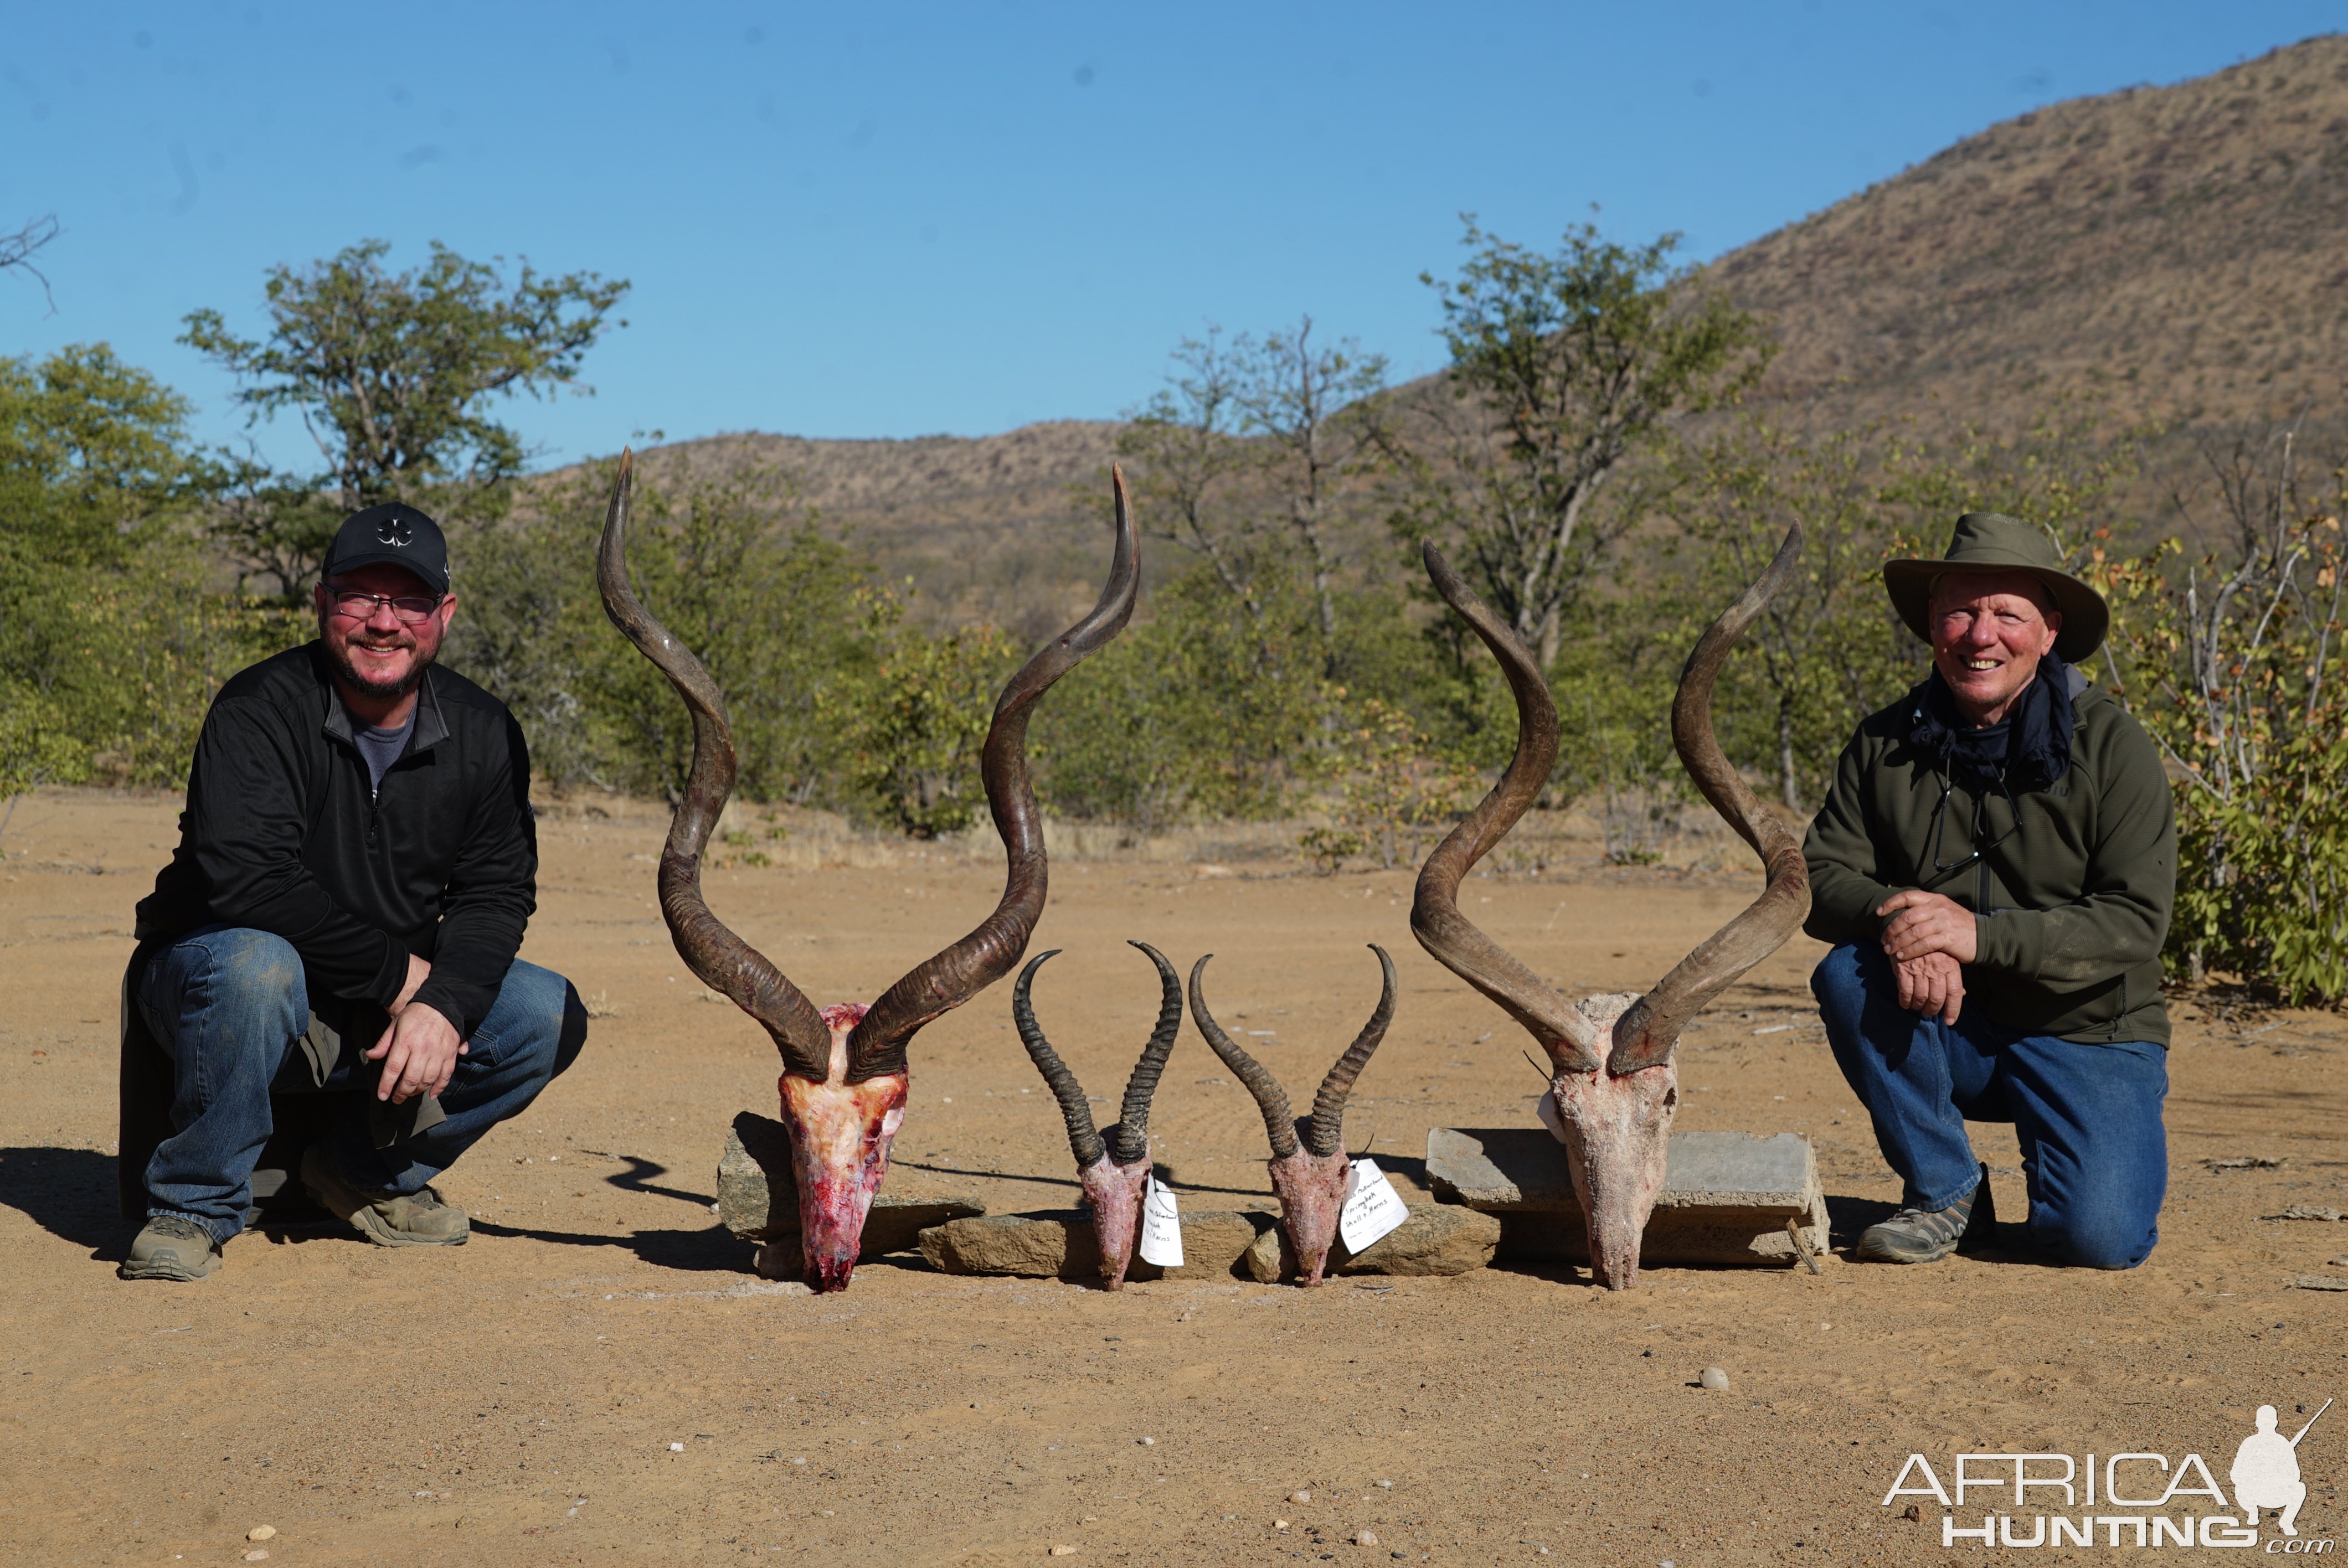
[[(244, 434), (185, 312), (362, 237), (627, 277), (545, 462), (634, 432), (1108, 418), (1183, 333), (1310, 312), (1399, 378), (1458, 214), (1733, 249), (2038, 103), (2174, 82), (2329, 5), (214, 5), (0, 28), (0, 352), (108, 340)], [(251, 432), (308, 465), (298, 423)]]

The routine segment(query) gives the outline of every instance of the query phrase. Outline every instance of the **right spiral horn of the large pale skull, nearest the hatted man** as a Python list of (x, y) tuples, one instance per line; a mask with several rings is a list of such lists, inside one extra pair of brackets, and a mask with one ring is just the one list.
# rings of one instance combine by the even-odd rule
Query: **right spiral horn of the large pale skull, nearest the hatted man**
[(1688, 664), (1679, 674), (1679, 695), (1672, 699), (1672, 744), (1679, 749), (1679, 761), (1695, 786), (1705, 791), (1705, 800), (1712, 800), (1712, 810), (1761, 857), (1768, 873), (1761, 897), (1681, 958), (1669, 974), (1655, 981), (1653, 991), (1615, 1019), (1613, 1052), (1606, 1056), (1606, 1070), (1613, 1075), (1669, 1061), (1688, 1019), (1740, 974), (1775, 953), (1810, 913), (1810, 869), (1801, 859), (1801, 845), (1784, 824), (1761, 812), (1754, 791), (1728, 765), (1728, 758), (1721, 756), (1721, 742), (1712, 735), (1712, 683), (1719, 678), (1721, 664), (1728, 662), (1728, 648), (1794, 575), (1799, 559), (1801, 523), (1794, 523), (1784, 530), (1784, 542), (1768, 570), (1695, 643), (1695, 653), (1688, 655)]

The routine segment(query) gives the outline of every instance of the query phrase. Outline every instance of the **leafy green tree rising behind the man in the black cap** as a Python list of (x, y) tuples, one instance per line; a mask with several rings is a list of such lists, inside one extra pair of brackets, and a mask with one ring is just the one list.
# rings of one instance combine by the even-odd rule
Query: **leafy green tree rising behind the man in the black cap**
[[(610, 329), (627, 282), (594, 272), (507, 277), (502, 258), (467, 261), (432, 244), (420, 268), (383, 265), (390, 242), (364, 239), (308, 268), (277, 265), (270, 329), (239, 338), (218, 310), (185, 319), (181, 343), (228, 369), (254, 420), (296, 411), (324, 472), (249, 472), (223, 533), (258, 570), (298, 594), (340, 514), (383, 500), (495, 514), (524, 465), (521, 437), (493, 418), (498, 399), (552, 397), (578, 383)], [(331, 491), (331, 505), (317, 493)]]

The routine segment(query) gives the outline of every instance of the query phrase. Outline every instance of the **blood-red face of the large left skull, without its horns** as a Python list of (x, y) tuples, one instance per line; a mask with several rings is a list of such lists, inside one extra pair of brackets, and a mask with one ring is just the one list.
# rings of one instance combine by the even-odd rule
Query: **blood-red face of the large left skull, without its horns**
[(831, 1075), (824, 1082), (784, 1073), (782, 1124), (791, 1134), (798, 1176), (798, 1239), (808, 1286), (838, 1291), (857, 1265), (864, 1216), (888, 1174), (888, 1150), (904, 1122), (904, 1073), (848, 1082), (848, 1035), (862, 1007), (826, 1007)]

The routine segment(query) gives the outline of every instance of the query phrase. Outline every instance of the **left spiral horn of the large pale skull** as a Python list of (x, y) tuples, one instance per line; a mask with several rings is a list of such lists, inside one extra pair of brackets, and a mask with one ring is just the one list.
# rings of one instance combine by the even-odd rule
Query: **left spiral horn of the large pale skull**
[(1444, 554), (1428, 540), (1428, 577), (1460, 617), (1475, 627), (1500, 674), (1517, 695), (1517, 756), (1468, 817), (1435, 845), (1418, 869), (1418, 894), (1411, 899), (1411, 934), (1435, 962), (1489, 995), (1550, 1052), (1561, 1073), (1587, 1073), (1599, 1066), (1599, 1033), (1573, 1002), (1552, 991), (1498, 941), (1479, 932), (1460, 913), (1458, 890), (1484, 854), (1500, 843), (1517, 819), (1531, 810), (1550, 770), (1557, 765), (1557, 704), (1540, 667), (1491, 608), (1475, 596)]

